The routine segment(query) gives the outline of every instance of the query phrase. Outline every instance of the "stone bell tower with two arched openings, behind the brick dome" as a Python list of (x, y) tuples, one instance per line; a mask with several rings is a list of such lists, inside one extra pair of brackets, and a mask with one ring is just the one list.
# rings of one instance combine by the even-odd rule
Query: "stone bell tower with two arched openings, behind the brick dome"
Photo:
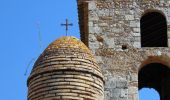
[(104, 75), (104, 100), (138, 100), (142, 88), (170, 100), (170, 1), (77, 1), (81, 40)]

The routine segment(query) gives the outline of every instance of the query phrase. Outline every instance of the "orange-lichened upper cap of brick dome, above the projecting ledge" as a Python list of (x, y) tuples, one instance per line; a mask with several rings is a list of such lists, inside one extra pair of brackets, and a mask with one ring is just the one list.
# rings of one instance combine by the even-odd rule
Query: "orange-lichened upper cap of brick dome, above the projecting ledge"
[(68, 69), (101, 73), (88, 47), (75, 37), (64, 36), (51, 43), (39, 56), (30, 77), (47, 71)]

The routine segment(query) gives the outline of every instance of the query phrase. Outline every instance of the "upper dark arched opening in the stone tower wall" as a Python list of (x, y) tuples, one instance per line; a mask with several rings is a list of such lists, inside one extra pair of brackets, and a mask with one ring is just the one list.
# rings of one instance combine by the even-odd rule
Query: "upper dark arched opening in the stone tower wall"
[(142, 47), (168, 47), (167, 22), (159, 12), (148, 12), (140, 20)]

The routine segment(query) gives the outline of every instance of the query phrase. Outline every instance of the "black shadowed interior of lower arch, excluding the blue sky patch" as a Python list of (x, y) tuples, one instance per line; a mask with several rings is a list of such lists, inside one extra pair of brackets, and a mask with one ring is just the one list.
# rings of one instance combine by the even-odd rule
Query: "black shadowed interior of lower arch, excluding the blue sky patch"
[(170, 100), (170, 69), (160, 63), (145, 65), (138, 73), (138, 88), (153, 88), (160, 100)]

